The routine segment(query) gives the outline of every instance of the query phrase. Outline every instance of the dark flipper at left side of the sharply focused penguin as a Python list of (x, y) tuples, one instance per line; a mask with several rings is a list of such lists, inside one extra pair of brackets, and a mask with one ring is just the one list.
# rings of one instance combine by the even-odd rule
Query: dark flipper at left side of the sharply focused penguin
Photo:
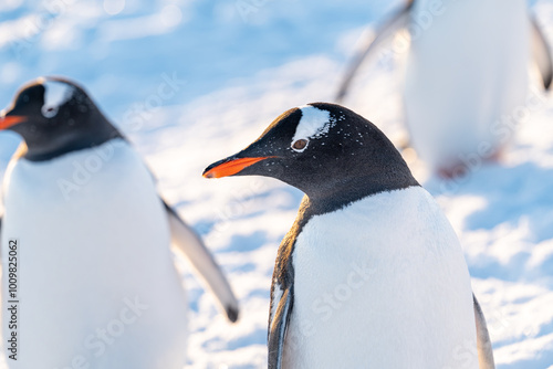
[[(291, 287), (290, 287), (291, 288)], [(284, 337), (286, 336), (290, 312), (292, 309), (292, 294), (286, 288), (279, 301), (279, 305), (269, 326), (269, 365), (268, 369), (281, 369), (284, 352)]]

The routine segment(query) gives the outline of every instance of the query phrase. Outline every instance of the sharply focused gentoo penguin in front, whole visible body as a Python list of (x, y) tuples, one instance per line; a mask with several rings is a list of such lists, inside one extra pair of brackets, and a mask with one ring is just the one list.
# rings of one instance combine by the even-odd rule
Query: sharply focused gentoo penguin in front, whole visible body
[(251, 175), (305, 193), (278, 252), (269, 368), (493, 368), (459, 241), (376, 126), (293, 108), (204, 172)]

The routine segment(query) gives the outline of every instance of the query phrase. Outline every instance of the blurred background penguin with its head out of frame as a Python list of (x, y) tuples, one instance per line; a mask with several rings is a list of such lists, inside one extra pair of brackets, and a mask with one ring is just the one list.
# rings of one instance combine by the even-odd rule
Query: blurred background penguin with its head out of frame
[(338, 103), (365, 56), (383, 45), (403, 52), (390, 41), (401, 28), (410, 32), (404, 103), (413, 147), (444, 177), (497, 159), (535, 105), (535, 96), (526, 101), (532, 53), (545, 88), (552, 81), (550, 50), (526, 1), (406, 1), (376, 36), (367, 33)]

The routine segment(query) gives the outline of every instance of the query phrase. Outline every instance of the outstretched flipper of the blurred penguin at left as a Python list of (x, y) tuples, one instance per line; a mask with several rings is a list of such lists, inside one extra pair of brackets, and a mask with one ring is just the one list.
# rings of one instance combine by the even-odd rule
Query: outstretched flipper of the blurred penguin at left
[(199, 235), (165, 201), (164, 204), (169, 218), (171, 244), (187, 256), (197, 274), (201, 276), (217, 297), (228, 319), (232, 323), (237, 321), (239, 314), (238, 301), (221, 268)]

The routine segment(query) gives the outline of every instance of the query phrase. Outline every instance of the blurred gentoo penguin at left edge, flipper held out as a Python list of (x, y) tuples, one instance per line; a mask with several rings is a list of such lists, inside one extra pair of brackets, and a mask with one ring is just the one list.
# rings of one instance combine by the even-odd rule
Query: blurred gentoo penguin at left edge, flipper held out
[(170, 243), (237, 319), (209, 251), (82, 87), (39, 78), (2, 112), (0, 128), (24, 141), (3, 181), (10, 369), (181, 369), (187, 299)]

